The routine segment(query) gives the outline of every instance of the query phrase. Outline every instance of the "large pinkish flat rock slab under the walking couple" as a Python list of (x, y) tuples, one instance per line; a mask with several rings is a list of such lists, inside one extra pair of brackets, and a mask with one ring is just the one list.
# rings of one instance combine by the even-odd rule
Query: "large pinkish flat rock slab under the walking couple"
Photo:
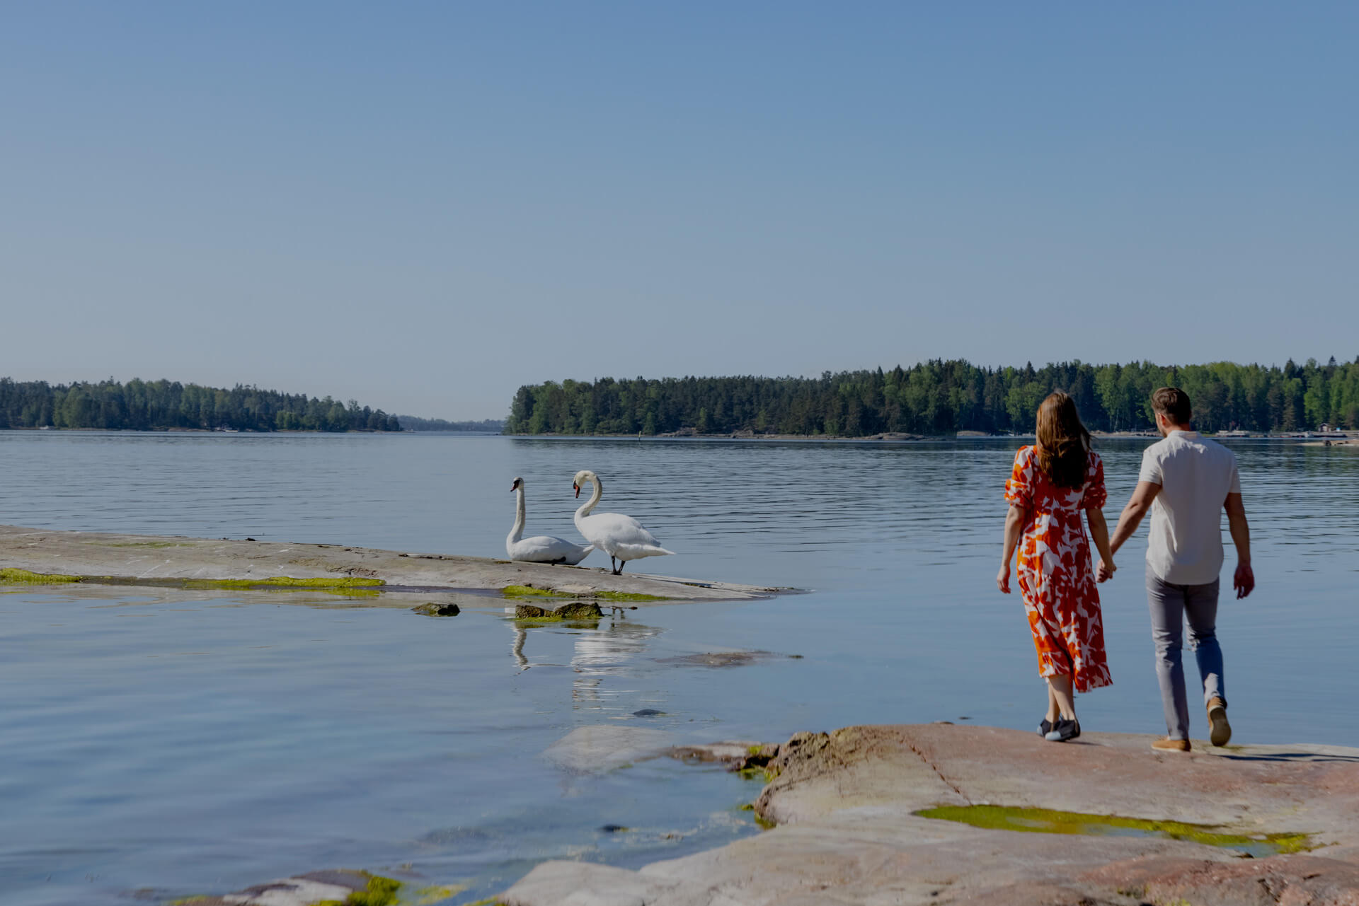
[[(1036, 733), (939, 724), (851, 727), (780, 744), (756, 803), (779, 826), (640, 872), (545, 863), (510, 906), (1359, 906), (1359, 750)], [(722, 754), (727, 753), (723, 747)], [(765, 753), (773, 747), (765, 747)], [(716, 754), (716, 753), (715, 753)], [(1161, 837), (989, 830), (916, 815), (1012, 805), (1208, 825), (1243, 835), (1311, 834), (1310, 853), (1243, 858)], [(669, 882), (673, 887), (666, 887)]]

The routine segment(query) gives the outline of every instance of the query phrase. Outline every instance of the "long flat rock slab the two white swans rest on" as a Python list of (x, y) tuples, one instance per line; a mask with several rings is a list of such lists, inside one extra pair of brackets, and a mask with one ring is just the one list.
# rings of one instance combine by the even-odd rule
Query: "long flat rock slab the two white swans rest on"
[[(163, 535), (45, 531), (0, 526), (0, 566), (35, 573), (110, 577), (135, 584), (170, 580), (381, 579), (406, 588), (501, 590), (508, 585), (563, 595), (617, 592), (667, 600), (766, 598), (779, 588), (696, 581), (606, 569), (550, 566), (484, 557), (421, 554), (342, 545), (212, 541)], [(639, 602), (646, 603), (646, 602)]]

